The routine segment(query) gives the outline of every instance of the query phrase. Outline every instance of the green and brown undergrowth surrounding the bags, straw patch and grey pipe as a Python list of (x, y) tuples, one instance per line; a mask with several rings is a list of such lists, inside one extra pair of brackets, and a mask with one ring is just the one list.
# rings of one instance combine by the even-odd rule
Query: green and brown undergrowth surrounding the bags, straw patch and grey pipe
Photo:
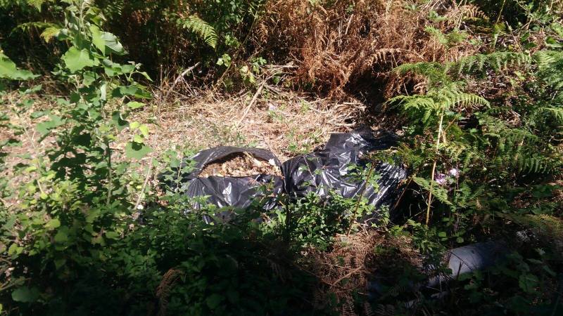
[[(0, 0), (0, 313), (560, 315), (562, 16), (555, 0)], [(398, 134), (368, 157), (408, 169), (392, 205), (311, 193), (265, 211), (266, 186), (218, 208), (182, 186), (199, 148), (151, 147), (177, 91), (246, 96), (237, 131), (284, 90)], [(449, 250), (490, 241), (495, 264), (424, 287)]]

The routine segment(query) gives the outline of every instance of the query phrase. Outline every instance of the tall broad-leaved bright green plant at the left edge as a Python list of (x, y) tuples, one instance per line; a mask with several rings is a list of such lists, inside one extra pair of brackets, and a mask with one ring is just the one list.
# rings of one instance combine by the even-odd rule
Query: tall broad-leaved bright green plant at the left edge
[[(63, 309), (72, 305), (80, 291), (70, 296), (53, 294), (65, 291), (66, 282), (100, 277), (91, 267), (107, 263), (106, 247), (128, 230), (127, 214), (133, 204), (125, 173), (130, 162), (115, 161), (112, 145), (117, 133), (128, 127), (139, 135), (128, 143), (127, 156), (139, 159), (149, 151), (143, 144), (146, 126), (129, 125), (125, 119), (142, 105), (134, 100), (150, 94), (134, 81), (138, 75), (146, 77), (139, 65), (111, 60), (125, 54), (125, 49), (113, 34), (101, 31), (101, 22), (99, 11), (88, 1), (68, 1), (64, 25), (55, 35), (68, 43), (68, 50), (54, 73), (72, 92), (68, 98), (56, 99), (56, 109), (31, 113), (32, 120), (39, 120), (35, 126), (39, 141), (51, 138), (56, 146), (20, 163), (20, 172), (34, 180), (21, 188), (17, 207), (2, 214), (3, 256), (18, 263), (10, 279), (34, 280), (12, 292), (15, 302)], [(4, 57), (2, 63), (15, 79), (32, 77)], [(30, 113), (30, 96), (39, 88), (20, 92), (8, 110), (20, 116)], [(30, 136), (25, 126), (11, 128)], [(34, 145), (35, 140), (28, 141)]]

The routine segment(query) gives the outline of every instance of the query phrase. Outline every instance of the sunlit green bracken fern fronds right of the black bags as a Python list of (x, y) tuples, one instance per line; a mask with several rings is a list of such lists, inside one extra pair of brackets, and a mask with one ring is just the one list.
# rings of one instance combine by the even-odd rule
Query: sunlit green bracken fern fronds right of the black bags
[[(557, 101), (559, 97), (555, 92), (559, 91), (562, 78), (560, 56), (560, 53), (554, 51), (540, 51), (533, 56), (499, 52), (470, 56), (445, 65), (421, 62), (398, 67), (398, 72), (401, 73), (415, 72), (426, 76), (429, 88), (424, 95), (398, 96), (389, 100), (389, 103), (400, 104), (413, 121), (421, 123), (412, 126), (410, 132), (413, 136), (426, 136), (436, 133), (434, 131), (437, 130), (434, 134), (436, 136), (432, 136), (434, 149), (424, 144), (415, 144), (415, 152), (412, 152), (412, 149), (403, 147), (405, 157), (418, 157), (412, 161), (415, 168), (428, 160), (434, 161), (431, 171), (424, 171), (429, 174), (428, 180), (413, 178), (415, 183), (429, 192), (426, 224), (429, 223), (432, 197), (436, 197), (451, 209), (457, 209), (459, 206), (467, 207), (467, 197), (475, 200), (483, 193), (482, 189), (476, 189), (472, 183), (461, 182), (458, 185), (464, 187), (464, 190), (453, 190), (453, 195), (450, 195), (447, 188), (436, 183), (437, 166), (443, 170), (442, 173), (450, 168), (454, 168), (452, 170), (455, 170), (456, 174), (457, 169), (460, 169), (461, 173), (472, 169), (472, 176), (476, 176), (476, 170), (481, 170), (484, 173), (500, 174), (503, 178), (510, 177), (509, 171), (512, 171), (512, 176), (517, 176), (551, 173), (561, 168), (561, 153), (555, 147), (558, 140), (547, 136), (548, 133), (557, 133), (561, 124), (558, 116), (561, 110)], [(532, 76), (538, 78), (533, 82), (537, 93), (533, 106), (517, 109), (524, 117), (519, 126), (508, 124), (499, 117), (504, 113), (501, 106), (491, 105), (484, 98), (462, 92), (462, 75), (481, 74), (487, 68), (500, 72), (519, 65), (536, 65), (535, 71), (529, 71)], [(555, 93), (555, 102), (552, 102), (552, 99), (548, 105), (545, 98), (552, 98), (552, 93)], [(465, 128), (462, 124), (468, 119), (476, 119), (478, 125)], [(555, 124), (548, 123), (554, 119)], [(538, 124), (539, 121), (543, 123)], [(426, 158), (420, 159), (421, 154)], [(438, 162), (441, 162), (442, 166), (439, 166)], [(491, 170), (492, 168), (494, 169)], [(470, 192), (469, 187), (472, 186), (474, 192)], [(460, 197), (460, 194), (466, 197)], [(465, 202), (460, 204), (460, 198)]]

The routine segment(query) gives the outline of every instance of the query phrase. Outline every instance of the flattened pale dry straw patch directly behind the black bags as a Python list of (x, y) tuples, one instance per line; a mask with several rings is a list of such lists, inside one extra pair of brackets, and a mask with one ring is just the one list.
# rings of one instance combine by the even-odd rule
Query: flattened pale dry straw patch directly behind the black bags
[(267, 85), (236, 96), (175, 86), (167, 100), (159, 99), (167, 88), (156, 91), (150, 108), (131, 118), (150, 125), (146, 143), (157, 153), (177, 145), (195, 150), (251, 146), (271, 150), (283, 162), (324, 144), (330, 133), (350, 131), (365, 110), (358, 101), (310, 99)]

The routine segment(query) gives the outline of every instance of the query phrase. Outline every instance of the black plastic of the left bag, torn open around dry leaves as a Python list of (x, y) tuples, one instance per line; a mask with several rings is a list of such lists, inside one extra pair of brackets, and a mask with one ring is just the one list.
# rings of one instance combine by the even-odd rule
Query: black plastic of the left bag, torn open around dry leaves
[[(258, 174), (246, 177), (221, 177), (209, 176), (198, 178), (203, 168), (227, 157), (229, 154), (248, 153), (251, 156), (265, 160), (279, 168), (279, 160), (269, 150), (247, 147), (220, 146), (198, 152), (194, 157), (182, 162), (179, 170), (184, 170), (186, 164), (191, 162), (190, 172), (180, 173), (180, 185), (188, 197), (204, 197), (209, 204), (218, 207), (232, 206), (236, 209), (245, 209), (251, 205), (253, 198), (269, 196), (265, 203), (265, 210), (273, 209), (276, 204), (275, 196), (283, 190), (283, 180), (280, 176)], [(264, 192), (262, 188), (266, 188)], [(194, 209), (201, 209), (203, 205), (194, 202)]]

